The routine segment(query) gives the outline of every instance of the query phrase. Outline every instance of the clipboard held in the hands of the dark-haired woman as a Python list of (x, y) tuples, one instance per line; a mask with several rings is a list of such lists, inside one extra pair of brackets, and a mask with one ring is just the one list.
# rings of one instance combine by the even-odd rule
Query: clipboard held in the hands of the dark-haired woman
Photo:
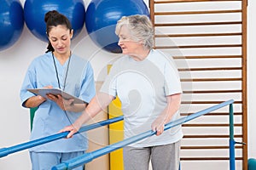
[(63, 99), (74, 99), (74, 104), (85, 104), (86, 102), (82, 99), (79, 99), (67, 92), (62, 91), (60, 88), (27, 88), (27, 91), (43, 96), (47, 99), (47, 94), (61, 95)]

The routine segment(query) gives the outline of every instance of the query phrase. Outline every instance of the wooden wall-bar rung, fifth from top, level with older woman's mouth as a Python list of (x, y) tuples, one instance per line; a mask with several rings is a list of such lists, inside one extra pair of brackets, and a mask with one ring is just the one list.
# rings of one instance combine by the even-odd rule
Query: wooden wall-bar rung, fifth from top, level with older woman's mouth
[(155, 46), (156, 49), (166, 49), (166, 48), (240, 48), (240, 47), (242, 47), (241, 44)]

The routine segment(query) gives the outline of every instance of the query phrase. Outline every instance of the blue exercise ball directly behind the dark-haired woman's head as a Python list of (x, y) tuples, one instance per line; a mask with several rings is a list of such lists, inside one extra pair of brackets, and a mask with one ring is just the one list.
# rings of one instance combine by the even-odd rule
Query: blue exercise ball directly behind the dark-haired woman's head
[(73, 27), (73, 37), (77, 37), (84, 27), (83, 0), (26, 0), (24, 4), (24, 18), (27, 28), (38, 39), (48, 42), (44, 14), (50, 10), (57, 10), (67, 16)]

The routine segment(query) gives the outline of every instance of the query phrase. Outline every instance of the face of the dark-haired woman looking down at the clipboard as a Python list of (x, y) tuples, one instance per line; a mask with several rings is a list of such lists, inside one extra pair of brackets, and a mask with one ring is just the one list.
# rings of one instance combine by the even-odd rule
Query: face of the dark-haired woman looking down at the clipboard
[(69, 54), (71, 38), (73, 37), (73, 30), (70, 31), (66, 26), (54, 26), (49, 31), (49, 42), (55, 49), (55, 53)]

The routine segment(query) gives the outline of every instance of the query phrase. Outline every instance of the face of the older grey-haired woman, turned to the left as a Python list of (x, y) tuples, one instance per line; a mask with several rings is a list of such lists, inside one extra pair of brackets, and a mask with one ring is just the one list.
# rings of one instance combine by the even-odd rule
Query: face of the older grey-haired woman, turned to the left
[(142, 47), (142, 44), (133, 40), (128, 28), (122, 26), (119, 31), (119, 46), (122, 48), (123, 54), (135, 55), (137, 49)]

